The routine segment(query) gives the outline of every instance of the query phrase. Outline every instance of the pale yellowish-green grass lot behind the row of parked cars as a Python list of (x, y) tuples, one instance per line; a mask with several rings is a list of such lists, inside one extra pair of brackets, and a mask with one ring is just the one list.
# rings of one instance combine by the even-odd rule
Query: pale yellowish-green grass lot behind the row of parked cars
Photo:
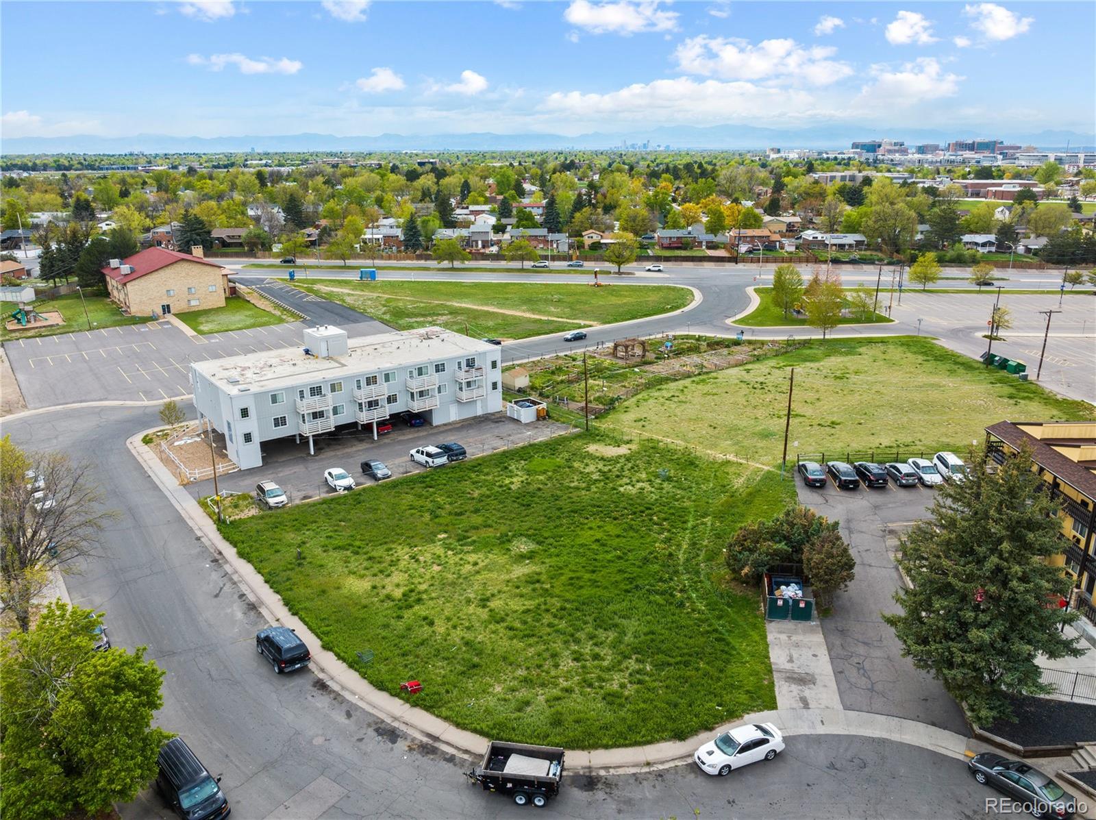
[(899, 338), (812, 342), (644, 391), (600, 423), (772, 464), (784, 444), (792, 366), (789, 454), (894, 445), (962, 453), (997, 421), (1096, 419), (1091, 405), (1059, 398), (929, 340)]

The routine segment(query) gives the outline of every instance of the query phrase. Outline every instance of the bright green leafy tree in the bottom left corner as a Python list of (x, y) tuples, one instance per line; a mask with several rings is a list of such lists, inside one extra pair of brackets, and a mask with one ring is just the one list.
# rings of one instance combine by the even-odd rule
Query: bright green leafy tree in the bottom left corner
[(95, 651), (90, 610), (56, 601), (0, 645), (5, 816), (98, 817), (133, 800), (170, 737), (152, 727), (163, 671), (145, 648)]

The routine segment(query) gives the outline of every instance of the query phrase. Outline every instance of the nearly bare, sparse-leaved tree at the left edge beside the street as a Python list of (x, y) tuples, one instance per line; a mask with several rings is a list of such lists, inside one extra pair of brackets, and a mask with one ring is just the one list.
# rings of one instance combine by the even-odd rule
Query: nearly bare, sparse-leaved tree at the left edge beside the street
[(114, 517), (102, 509), (90, 469), (62, 453), (25, 453), (10, 436), (0, 439), (0, 612), (23, 631), (42, 577), (93, 557)]

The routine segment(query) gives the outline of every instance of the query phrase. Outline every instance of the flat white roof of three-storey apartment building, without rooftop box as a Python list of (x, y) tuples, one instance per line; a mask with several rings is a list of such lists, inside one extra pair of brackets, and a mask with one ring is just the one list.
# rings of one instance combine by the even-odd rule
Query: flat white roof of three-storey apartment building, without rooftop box
[(240, 388), (274, 390), (297, 387), (309, 381), (498, 350), (479, 339), (436, 327), (356, 337), (347, 339), (346, 344), (345, 356), (331, 358), (306, 356), (306, 345), (301, 342), (296, 348), (194, 362), (192, 367), (219, 389), (236, 394), (241, 391)]

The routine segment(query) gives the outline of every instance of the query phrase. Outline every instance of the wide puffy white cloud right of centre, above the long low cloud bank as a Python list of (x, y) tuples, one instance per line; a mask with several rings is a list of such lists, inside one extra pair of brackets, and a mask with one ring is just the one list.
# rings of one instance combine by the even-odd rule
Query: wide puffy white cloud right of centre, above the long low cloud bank
[(752, 45), (743, 39), (689, 37), (674, 52), (677, 66), (692, 75), (724, 80), (804, 79), (827, 86), (853, 73), (846, 62), (830, 59), (831, 46), (803, 47), (794, 39), (765, 39)]

